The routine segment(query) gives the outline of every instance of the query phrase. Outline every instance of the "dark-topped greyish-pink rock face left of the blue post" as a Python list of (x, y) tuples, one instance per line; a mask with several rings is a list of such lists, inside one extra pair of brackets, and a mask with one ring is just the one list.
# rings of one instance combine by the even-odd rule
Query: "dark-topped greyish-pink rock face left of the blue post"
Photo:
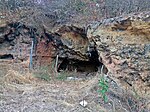
[(27, 60), (32, 40), (37, 38), (36, 29), (20, 22), (0, 26), (0, 55), (11, 55), (15, 61)]

